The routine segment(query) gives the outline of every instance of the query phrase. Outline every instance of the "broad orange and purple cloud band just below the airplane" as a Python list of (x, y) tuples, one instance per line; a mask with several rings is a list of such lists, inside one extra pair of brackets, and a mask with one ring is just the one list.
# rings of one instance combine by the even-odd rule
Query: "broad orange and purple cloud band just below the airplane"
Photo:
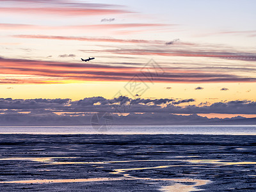
[[(17, 60), (0, 58), (1, 74), (15, 76), (14, 79), (0, 79), (1, 83), (68, 83), (70, 81), (139, 81), (155, 82), (255, 82), (256, 78), (220, 74), (213, 72), (182, 71), (162, 68), (155, 73), (143, 71), (140, 67), (109, 66), (87, 63), (63, 63), (54, 61)], [(150, 67), (150, 70), (156, 70)], [(148, 79), (153, 75), (153, 79)], [(20, 77), (20, 76), (30, 76)]]

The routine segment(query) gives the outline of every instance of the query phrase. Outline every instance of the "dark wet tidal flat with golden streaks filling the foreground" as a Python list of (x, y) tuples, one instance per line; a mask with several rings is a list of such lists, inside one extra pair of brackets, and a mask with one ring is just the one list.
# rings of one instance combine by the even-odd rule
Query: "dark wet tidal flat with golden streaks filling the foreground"
[(0, 134), (1, 191), (256, 191), (256, 136)]

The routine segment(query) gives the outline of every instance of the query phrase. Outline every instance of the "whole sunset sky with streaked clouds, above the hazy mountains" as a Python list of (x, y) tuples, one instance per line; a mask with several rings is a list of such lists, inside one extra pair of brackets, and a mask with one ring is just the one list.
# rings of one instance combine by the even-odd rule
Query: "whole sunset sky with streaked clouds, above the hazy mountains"
[[(253, 0), (1, 1), (0, 112), (85, 99), (90, 108), (74, 109), (91, 113), (126, 98), (129, 113), (255, 117), (255, 6)], [(88, 57), (95, 60), (81, 61)], [(132, 100), (139, 106), (132, 108)]]

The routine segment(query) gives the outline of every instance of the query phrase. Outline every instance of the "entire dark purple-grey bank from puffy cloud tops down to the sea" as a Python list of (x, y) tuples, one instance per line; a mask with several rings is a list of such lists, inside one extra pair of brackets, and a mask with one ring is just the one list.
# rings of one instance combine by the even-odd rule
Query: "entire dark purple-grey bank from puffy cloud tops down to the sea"
[[(98, 111), (111, 113), (114, 125), (256, 124), (256, 118), (237, 116), (220, 119), (196, 115), (196, 113), (256, 114), (256, 102), (234, 100), (196, 106), (193, 104), (194, 101), (194, 99), (131, 99), (124, 96), (115, 99), (90, 97), (75, 101), (0, 99), (0, 125), (90, 125), (92, 115)], [(186, 106), (183, 106), (184, 104)]]

